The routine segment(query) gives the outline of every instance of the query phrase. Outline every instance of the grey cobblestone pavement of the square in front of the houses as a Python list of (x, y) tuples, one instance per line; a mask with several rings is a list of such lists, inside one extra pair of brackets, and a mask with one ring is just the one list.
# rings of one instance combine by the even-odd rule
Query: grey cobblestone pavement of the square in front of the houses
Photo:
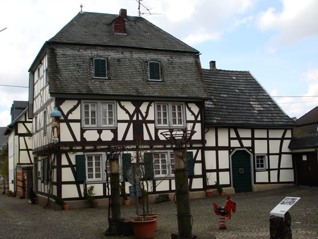
[[(289, 210), (293, 238), (318, 238), (318, 187), (286, 187), (279, 190), (231, 195), (237, 211), (227, 220), (227, 229), (218, 229), (213, 202), (225, 206), (226, 197), (191, 199), (193, 233), (211, 233), (216, 238), (270, 238), (269, 213), (285, 197), (301, 197)], [(151, 204), (158, 214), (155, 238), (177, 233), (174, 202)], [(121, 206), (122, 218), (132, 218), (136, 206)], [(28, 199), (0, 195), (0, 238), (106, 238), (107, 208), (54, 211), (28, 203)], [(108, 236), (107, 238), (134, 238)]]

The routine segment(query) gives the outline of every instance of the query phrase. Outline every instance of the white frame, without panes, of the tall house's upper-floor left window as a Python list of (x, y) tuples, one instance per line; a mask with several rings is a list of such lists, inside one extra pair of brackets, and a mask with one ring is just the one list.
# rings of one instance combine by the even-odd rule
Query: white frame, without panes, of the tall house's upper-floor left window
[[(89, 109), (86, 110), (86, 105), (89, 105)], [(95, 122), (92, 122), (92, 105), (95, 105)], [(112, 119), (112, 124), (104, 124), (102, 107), (112, 105), (112, 115), (109, 115), (111, 110), (106, 110), (106, 120)], [(85, 128), (116, 128), (117, 127), (117, 104), (115, 101), (94, 101), (94, 100), (83, 100), (81, 104), (82, 108), (82, 127)], [(86, 112), (88, 111), (88, 117), (86, 117)], [(88, 124), (86, 123), (86, 119), (89, 120)], [(107, 122), (110, 123), (110, 122)]]

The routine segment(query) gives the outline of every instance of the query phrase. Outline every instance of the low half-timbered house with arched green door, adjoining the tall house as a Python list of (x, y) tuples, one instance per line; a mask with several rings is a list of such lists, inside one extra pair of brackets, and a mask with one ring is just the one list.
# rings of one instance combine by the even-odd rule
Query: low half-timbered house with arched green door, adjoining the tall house
[(293, 122), (249, 71), (204, 69), (211, 100), (205, 104), (205, 173), (229, 192), (295, 184), (288, 144)]

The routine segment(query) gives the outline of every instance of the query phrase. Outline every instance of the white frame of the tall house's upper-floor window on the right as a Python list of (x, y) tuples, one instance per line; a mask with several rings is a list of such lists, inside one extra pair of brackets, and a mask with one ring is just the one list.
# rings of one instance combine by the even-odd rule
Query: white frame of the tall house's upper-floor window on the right
[[(165, 110), (158, 110), (158, 107), (165, 106)], [(175, 106), (180, 107), (182, 112), (179, 112), (181, 115), (175, 115)], [(173, 110), (173, 111), (172, 111)], [(166, 119), (164, 122), (163, 119)], [(181, 119), (181, 124), (176, 124), (174, 120)], [(180, 129), (186, 127), (186, 115), (185, 115), (185, 107), (184, 103), (167, 103), (167, 102), (157, 102), (155, 103), (155, 127), (158, 128), (172, 128), (172, 129)]]

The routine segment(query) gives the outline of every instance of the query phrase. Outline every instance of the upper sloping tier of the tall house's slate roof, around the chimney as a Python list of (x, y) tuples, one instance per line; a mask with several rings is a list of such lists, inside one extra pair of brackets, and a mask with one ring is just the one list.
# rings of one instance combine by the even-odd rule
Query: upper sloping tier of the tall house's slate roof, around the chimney
[(78, 13), (49, 42), (198, 52), (141, 17), (127, 16), (126, 35), (114, 34), (112, 21), (117, 17), (106, 13)]

